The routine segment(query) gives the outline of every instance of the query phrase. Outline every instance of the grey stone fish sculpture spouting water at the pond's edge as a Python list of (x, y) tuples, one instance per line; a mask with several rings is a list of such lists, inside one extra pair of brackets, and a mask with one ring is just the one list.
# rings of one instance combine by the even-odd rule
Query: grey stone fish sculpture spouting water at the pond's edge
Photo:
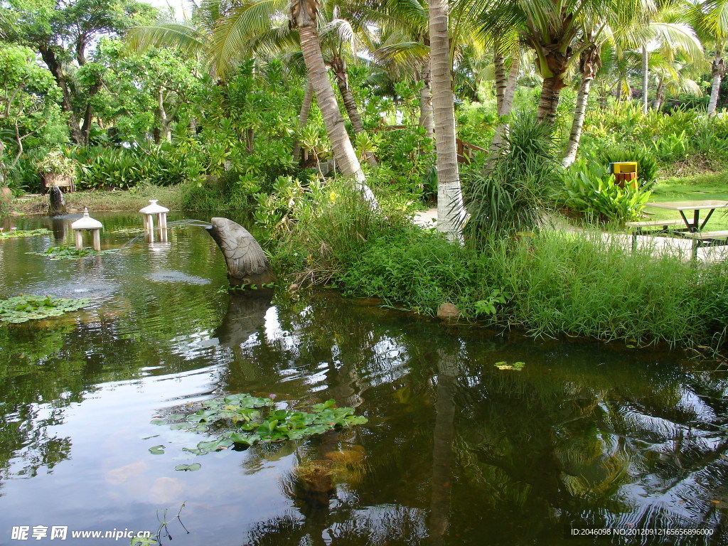
[(247, 229), (228, 218), (212, 218), (210, 223), (207, 232), (223, 251), (231, 287), (261, 288), (275, 282), (266, 254)]

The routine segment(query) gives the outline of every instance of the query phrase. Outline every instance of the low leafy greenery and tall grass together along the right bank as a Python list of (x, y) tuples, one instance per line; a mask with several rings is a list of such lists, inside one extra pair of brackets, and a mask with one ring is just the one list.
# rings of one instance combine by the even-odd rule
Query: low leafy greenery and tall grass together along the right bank
[(696, 268), (669, 253), (623, 246), (596, 232), (537, 232), (477, 250), (422, 230), (395, 230), (363, 242), (337, 280), (352, 296), (381, 297), (430, 316), (451, 302), (464, 318), (532, 336), (724, 343), (727, 262)]

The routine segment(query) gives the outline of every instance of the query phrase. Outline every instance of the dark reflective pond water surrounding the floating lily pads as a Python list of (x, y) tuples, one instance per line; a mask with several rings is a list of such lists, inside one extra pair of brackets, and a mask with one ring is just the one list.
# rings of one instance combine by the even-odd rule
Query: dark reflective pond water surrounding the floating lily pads
[[(72, 218), (17, 219), (54, 232), (0, 242), (0, 298), (92, 300), (0, 325), (0, 544), (23, 543), (19, 526), (29, 540), (41, 526), (33, 543), (60, 542), (60, 526), (66, 543), (129, 544), (71, 531), (156, 534), (160, 520), (179, 546), (728, 543), (716, 363), (443, 325), (334, 291), (229, 296), (201, 227), (149, 242), (129, 231), (138, 215), (94, 216), (120, 252), (28, 254), (71, 245)], [(239, 392), (334, 398), (368, 423), (201, 456), (183, 448), (204, 433), (151, 423)]]

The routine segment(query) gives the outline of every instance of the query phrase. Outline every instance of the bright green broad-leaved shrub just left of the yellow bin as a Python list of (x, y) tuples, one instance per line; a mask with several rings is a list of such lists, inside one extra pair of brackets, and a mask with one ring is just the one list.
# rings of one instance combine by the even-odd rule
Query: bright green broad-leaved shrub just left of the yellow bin
[(637, 220), (652, 195), (629, 183), (620, 188), (608, 169), (586, 159), (577, 159), (563, 170), (563, 185), (566, 206), (592, 221)]

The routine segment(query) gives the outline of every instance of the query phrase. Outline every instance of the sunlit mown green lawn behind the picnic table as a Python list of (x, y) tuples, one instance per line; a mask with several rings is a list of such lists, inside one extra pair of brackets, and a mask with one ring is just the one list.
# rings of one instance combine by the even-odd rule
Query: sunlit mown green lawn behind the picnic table
[[(668, 201), (702, 201), (718, 199), (728, 201), (728, 173), (719, 175), (696, 175), (687, 178), (667, 178), (654, 186), (650, 202)], [(654, 213), (650, 218), (666, 220), (680, 218), (676, 210), (661, 210), (647, 207), (646, 211)], [(702, 211), (701, 218), (705, 218)], [(728, 210), (716, 210), (705, 226), (706, 230), (717, 231), (728, 229)]]

